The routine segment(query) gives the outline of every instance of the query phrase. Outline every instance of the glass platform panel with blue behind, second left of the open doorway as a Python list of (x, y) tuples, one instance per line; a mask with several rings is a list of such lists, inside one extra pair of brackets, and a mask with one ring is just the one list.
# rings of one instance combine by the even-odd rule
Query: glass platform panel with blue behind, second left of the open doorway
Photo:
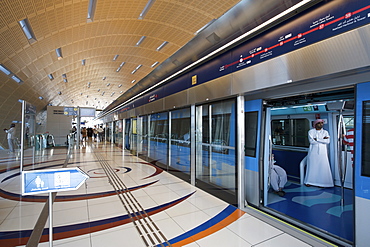
[(190, 174), (190, 108), (171, 112), (170, 166)]

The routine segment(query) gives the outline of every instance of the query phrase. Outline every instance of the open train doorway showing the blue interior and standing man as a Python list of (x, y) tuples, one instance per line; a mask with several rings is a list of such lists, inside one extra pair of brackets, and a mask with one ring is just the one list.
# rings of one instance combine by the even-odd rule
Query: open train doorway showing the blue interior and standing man
[(353, 243), (353, 89), (266, 105), (264, 208), (323, 237)]

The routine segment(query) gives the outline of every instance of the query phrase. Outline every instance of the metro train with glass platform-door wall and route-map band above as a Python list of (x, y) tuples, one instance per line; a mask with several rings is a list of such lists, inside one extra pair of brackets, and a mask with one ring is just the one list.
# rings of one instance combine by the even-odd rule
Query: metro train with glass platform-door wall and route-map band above
[[(234, 204), (342, 246), (370, 241), (370, 4), (322, 1), (105, 112), (108, 140)], [(307, 132), (335, 186), (306, 187)], [(354, 129), (354, 151), (343, 137)], [(281, 197), (270, 166), (287, 173)]]

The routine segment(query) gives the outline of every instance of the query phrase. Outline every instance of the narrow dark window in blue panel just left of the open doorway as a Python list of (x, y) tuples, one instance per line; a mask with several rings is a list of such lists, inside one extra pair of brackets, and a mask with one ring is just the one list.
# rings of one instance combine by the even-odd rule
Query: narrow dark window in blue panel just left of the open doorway
[(245, 156), (256, 157), (258, 112), (245, 113)]

